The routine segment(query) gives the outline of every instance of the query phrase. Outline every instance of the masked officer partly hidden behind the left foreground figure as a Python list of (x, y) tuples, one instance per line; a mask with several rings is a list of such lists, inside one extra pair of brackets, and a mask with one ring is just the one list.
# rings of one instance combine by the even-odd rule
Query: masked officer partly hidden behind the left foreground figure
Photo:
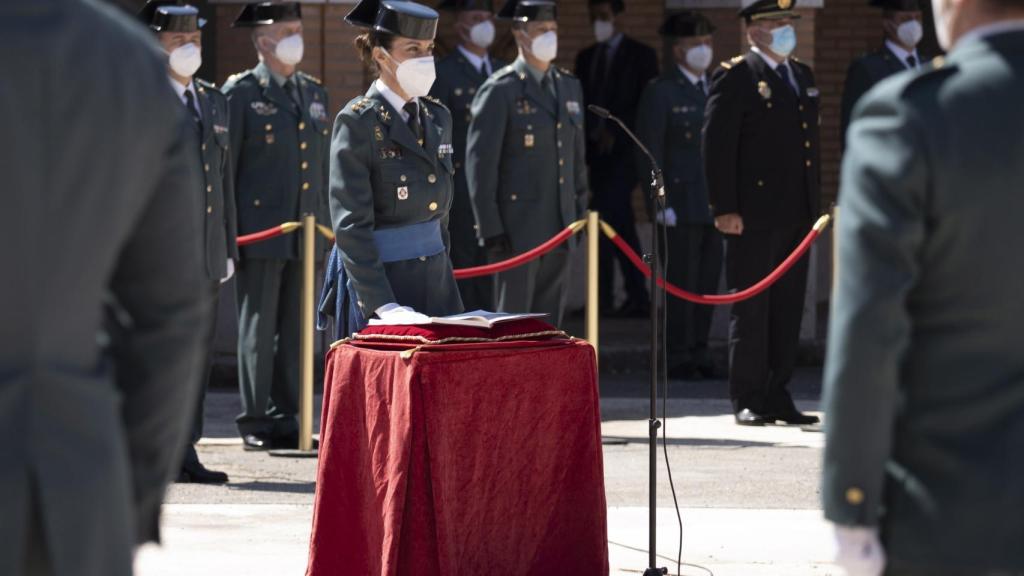
[[(197, 190), (202, 199), (199, 217), (203, 220), (203, 230), (200, 234), (205, 249), (207, 292), (216, 310), (220, 285), (234, 274), (234, 262), (239, 259), (234, 190), (227, 150), (227, 98), (213, 84), (194, 78), (202, 65), (203, 33), (200, 29), (205, 24), (195, 6), (179, 5), (178, 0), (150, 0), (139, 11), (139, 19), (157, 34), (157, 40), (168, 53), (171, 88), (193, 119), (191, 126), (198, 136), (193, 158), (198, 171), (203, 173), (203, 183)], [(227, 482), (226, 474), (208, 469), (196, 452), (196, 443), (203, 438), (203, 405), (213, 366), (215, 318), (216, 314), (211, 316), (206, 327), (207, 370), (201, 376), (193, 436), (185, 447), (177, 482)]]

